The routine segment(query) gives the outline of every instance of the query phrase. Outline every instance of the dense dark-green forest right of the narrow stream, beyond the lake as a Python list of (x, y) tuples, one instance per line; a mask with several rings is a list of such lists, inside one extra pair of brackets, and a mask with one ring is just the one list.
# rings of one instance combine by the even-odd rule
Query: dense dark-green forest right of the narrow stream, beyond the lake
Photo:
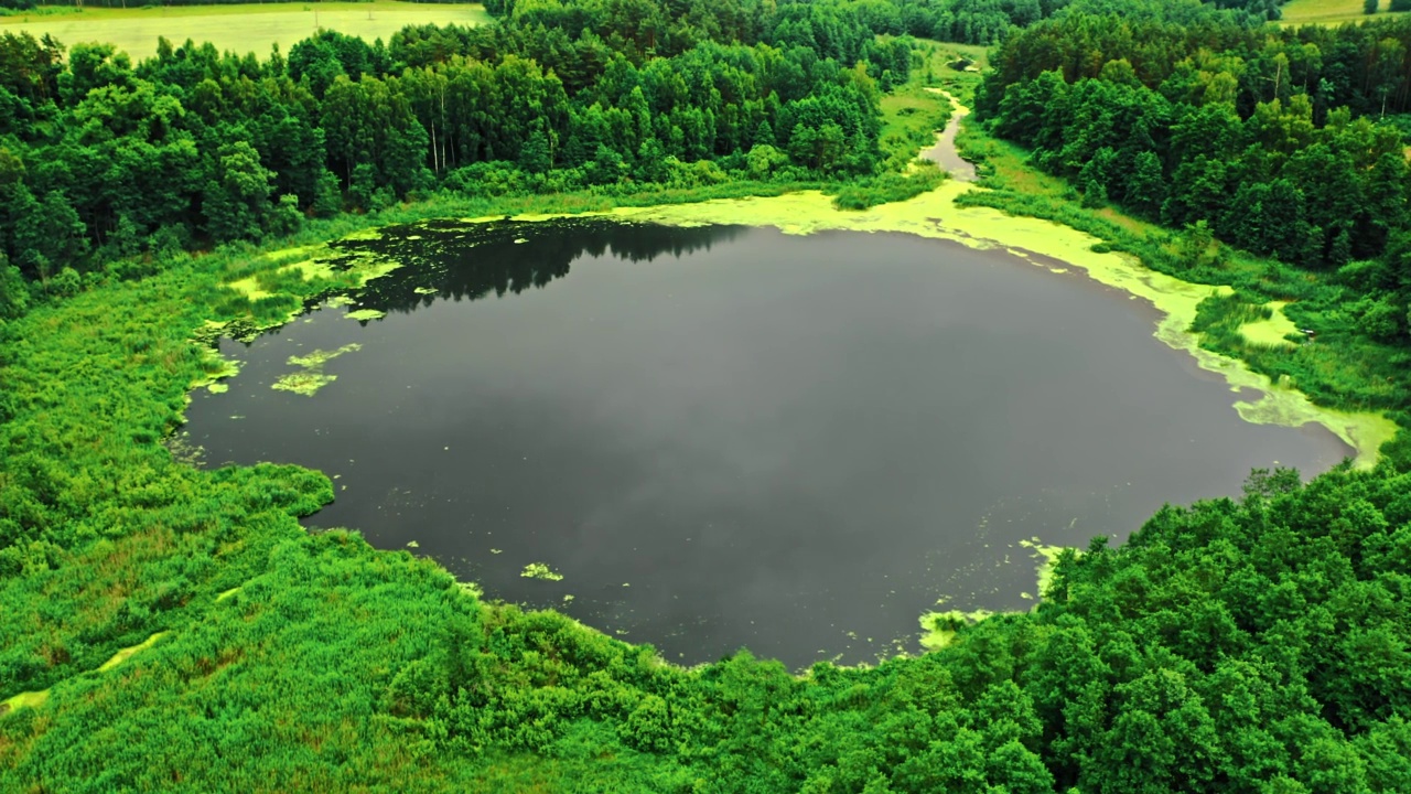
[(978, 96), (1041, 168), (1175, 227), (1346, 268), (1373, 338), (1408, 340), (1411, 20), (1252, 30), (1062, 16), (1000, 47)]

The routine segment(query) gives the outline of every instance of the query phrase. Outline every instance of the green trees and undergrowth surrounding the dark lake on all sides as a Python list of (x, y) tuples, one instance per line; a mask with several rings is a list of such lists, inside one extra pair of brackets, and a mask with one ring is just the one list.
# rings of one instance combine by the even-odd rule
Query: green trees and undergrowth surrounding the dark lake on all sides
[[(804, 671), (669, 665), (409, 551), (306, 533), (333, 499), (319, 472), (198, 469), (164, 444), (220, 370), (193, 329), (354, 285), (231, 300), (251, 261), (452, 198), (509, 215), (869, 184), (893, 162), (880, 102), (933, 37), (996, 44), (967, 133), (992, 189), (969, 201), (1113, 226), (1153, 267), (1233, 284), (1198, 319), (1213, 345), (1407, 427), (1407, 18), (488, 7), (481, 28), (265, 57), (0, 35), (0, 790), (1411, 790), (1405, 432), (1373, 469), (1257, 470), (1094, 538), (1033, 612), (935, 617), (940, 650)], [(1006, 153), (1062, 194), (1006, 188)], [(1318, 343), (1222, 342), (1225, 312), (1271, 298)]]

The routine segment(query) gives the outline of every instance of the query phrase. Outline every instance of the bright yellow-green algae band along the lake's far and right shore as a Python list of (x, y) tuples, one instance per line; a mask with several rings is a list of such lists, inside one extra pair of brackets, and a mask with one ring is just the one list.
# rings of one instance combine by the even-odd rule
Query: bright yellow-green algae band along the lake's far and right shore
[[(1164, 315), (1157, 324), (1157, 339), (1191, 353), (1201, 369), (1221, 374), (1232, 391), (1253, 389), (1261, 393), (1259, 400), (1235, 403), (1235, 410), (1246, 421), (1287, 427), (1301, 427), (1308, 422), (1321, 424), (1356, 451), (1353, 461), (1359, 468), (1376, 465), (1377, 449), (1395, 435), (1395, 422), (1383, 414), (1339, 411), (1314, 405), (1302, 393), (1273, 383), (1267, 376), (1252, 372), (1243, 362), (1202, 349), (1198, 335), (1188, 331), (1195, 319), (1195, 307), (1212, 292), (1229, 294), (1229, 287), (1191, 284), (1150, 270), (1133, 256), (1094, 251), (1092, 246), (1102, 240), (1070, 226), (1037, 218), (1006, 215), (985, 206), (955, 206), (955, 199), (961, 194), (975, 189), (983, 188), (948, 181), (938, 189), (913, 199), (866, 211), (834, 209), (830, 196), (817, 191), (804, 191), (782, 196), (619, 208), (594, 215), (673, 226), (711, 223), (775, 226), (786, 235), (810, 235), (827, 230), (903, 232), (921, 237), (952, 240), (974, 249), (1009, 250), (1031, 261), (1031, 254), (1038, 254), (1078, 267), (1094, 281), (1123, 290), (1134, 298), (1143, 298), (1154, 305)], [(562, 218), (562, 215), (521, 215), (515, 220), (533, 222), (555, 218)], [(467, 222), (485, 220), (498, 220), (498, 218), (467, 219)], [(1280, 319), (1283, 322), (1278, 322)], [(1274, 333), (1287, 332), (1292, 324), (1283, 318), (1283, 312), (1276, 311), (1276, 321), (1270, 325), (1274, 328), (1249, 331), (1260, 338), (1267, 338), (1271, 335), (1270, 331)]]

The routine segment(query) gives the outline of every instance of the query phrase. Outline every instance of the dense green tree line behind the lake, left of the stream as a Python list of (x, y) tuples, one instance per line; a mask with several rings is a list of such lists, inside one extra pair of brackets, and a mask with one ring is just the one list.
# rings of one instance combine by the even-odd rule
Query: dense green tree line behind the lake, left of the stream
[(571, 38), (514, 20), (385, 45), (323, 31), (267, 58), (164, 40), (135, 65), (110, 45), (0, 34), (0, 312), (21, 311), (21, 280), (72, 294), (109, 263), (440, 189), (872, 174), (878, 102), (907, 79), (910, 44), (841, 3), (797, 8), (748, 44), (588, 14)]

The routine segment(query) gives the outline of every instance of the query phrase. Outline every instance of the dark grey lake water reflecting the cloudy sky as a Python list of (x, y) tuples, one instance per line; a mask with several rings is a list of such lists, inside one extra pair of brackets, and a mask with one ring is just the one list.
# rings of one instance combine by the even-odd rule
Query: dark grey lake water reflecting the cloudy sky
[[(1125, 538), (1253, 466), (1349, 452), (1243, 422), (1150, 307), (1005, 253), (581, 220), (360, 244), (409, 261), (358, 298), (388, 315), (224, 342), (244, 369), (195, 396), (190, 441), (336, 478), (310, 527), (415, 540), (672, 660), (910, 650), (938, 599), (1031, 606), (1022, 540)], [(316, 396), (270, 387), (353, 342)]]

